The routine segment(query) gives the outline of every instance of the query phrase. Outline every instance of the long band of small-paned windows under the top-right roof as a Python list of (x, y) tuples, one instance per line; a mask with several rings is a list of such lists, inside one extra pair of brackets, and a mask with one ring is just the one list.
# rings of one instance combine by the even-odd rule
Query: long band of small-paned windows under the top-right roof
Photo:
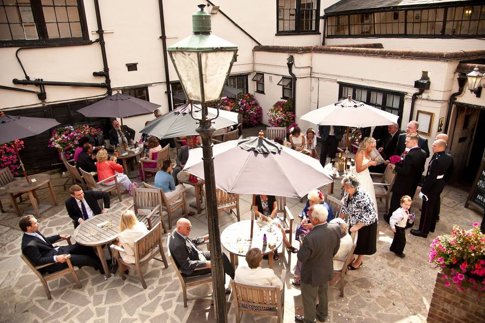
[(485, 35), (485, 5), (339, 15), (326, 20), (327, 36)]

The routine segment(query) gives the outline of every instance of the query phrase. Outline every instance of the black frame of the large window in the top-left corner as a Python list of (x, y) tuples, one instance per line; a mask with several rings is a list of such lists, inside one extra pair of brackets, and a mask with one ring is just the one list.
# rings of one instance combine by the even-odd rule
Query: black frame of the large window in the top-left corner
[[(0, 40), (0, 47), (17, 47), (17, 46), (33, 46), (33, 45), (52, 46), (52, 45), (90, 43), (89, 32), (87, 30), (86, 15), (84, 10), (84, 2), (82, 0), (76, 0), (76, 1), (77, 1), (77, 9), (78, 9), (78, 15), (79, 15), (79, 23), (81, 25), (82, 36), (65, 37), (65, 38), (49, 38), (49, 34), (47, 32), (47, 26), (46, 26), (44, 14), (43, 14), (43, 6), (48, 7), (49, 5), (42, 5), (41, 0), (30, 0), (30, 8), (32, 11), (32, 16), (33, 16), (38, 39)], [(19, 16), (21, 15), (20, 10), (18, 9), (19, 8), (18, 4), (12, 5), (9, 7), (17, 8), (17, 12), (19, 12)], [(29, 6), (20, 6), (20, 7), (29, 7)], [(69, 7), (69, 6), (66, 5), (66, 7)], [(5, 8), (5, 5), (3, 4), (0, 5), (0, 10), (5, 10), (4, 8)], [(8, 20), (5, 24), (9, 26)], [(20, 24), (22, 24), (22, 22), (20, 22)]]

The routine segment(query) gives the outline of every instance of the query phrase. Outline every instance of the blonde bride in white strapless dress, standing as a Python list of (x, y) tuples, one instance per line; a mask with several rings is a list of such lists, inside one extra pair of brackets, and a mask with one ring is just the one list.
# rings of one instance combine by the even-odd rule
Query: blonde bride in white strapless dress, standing
[(377, 201), (375, 199), (374, 184), (370, 177), (369, 167), (376, 166), (377, 161), (371, 160), (370, 153), (375, 148), (375, 139), (372, 137), (365, 137), (359, 146), (359, 150), (355, 154), (355, 176), (359, 179), (359, 186), (363, 188), (374, 202), (374, 208), (377, 212)]

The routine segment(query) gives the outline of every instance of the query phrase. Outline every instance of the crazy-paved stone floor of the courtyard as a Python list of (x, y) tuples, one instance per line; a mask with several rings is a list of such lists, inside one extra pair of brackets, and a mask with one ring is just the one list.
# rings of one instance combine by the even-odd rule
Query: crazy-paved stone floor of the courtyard
[[(173, 153), (172, 153), (173, 154)], [(73, 233), (72, 223), (67, 216), (63, 201), (68, 194), (59, 172), (50, 172), (60, 205), (42, 213), (40, 230), (44, 235)], [(131, 176), (135, 177), (132, 172)], [(153, 182), (153, 178), (149, 182)], [(70, 182), (66, 187), (70, 186)], [(341, 194), (340, 185), (335, 184), (334, 196)], [(429, 244), (439, 235), (451, 232), (453, 224), (470, 228), (479, 222), (477, 211), (464, 208), (466, 192), (446, 188), (442, 194), (441, 221), (435, 233), (427, 239), (414, 237), (407, 231), (406, 257), (398, 258), (389, 251), (392, 232), (389, 226), (379, 222), (377, 253), (364, 258), (364, 264), (347, 276), (345, 296), (340, 297), (337, 289), (329, 290), (329, 317), (331, 322), (424, 322), (431, 299), (437, 271), (428, 263)], [(42, 203), (50, 204), (49, 191), (38, 190)], [(250, 219), (251, 196), (241, 195), (241, 218)], [(193, 188), (188, 188), (187, 199), (194, 202)], [(112, 198), (112, 209), (126, 208), (131, 202), (129, 195), (123, 202)], [(290, 210), (296, 216), (303, 208), (298, 199), (288, 199)], [(6, 204), (6, 203), (4, 203)], [(379, 213), (384, 212), (384, 203), (378, 202)], [(415, 199), (413, 210), (420, 202)], [(30, 206), (28, 199), (20, 204), (22, 210)], [(182, 303), (180, 283), (172, 265), (153, 260), (143, 268), (148, 288), (142, 289), (138, 279), (130, 273), (126, 281), (117, 275), (108, 281), (92, 268), (77, 270), (82, 288), (78, 289), (70, 275), (49, 282), (52, 300), (47, 300), (37, 277), (20, 259), (21, 232), (18, 216), (10, 205), (4, 205), (6, 212), (0, 214), (0, 321), (2, 322), (215, 322), (211, 301), (201, 299)], [(196, 213), (197, 214), (197, 213)], [(419, 214), (419, 211), (417, 212)], [(174, 223), (180, 216), (176, 213)], [(235, 217), (221, 212), (221, 231), (235, 221)], [(207, 233), (205, 212), (191, 217), (193, 236)], [(418, 220), (418, 219), (417, 219)], [(167, 221), (165, 219), (165, 221)], [(297, 220), (297, 222), (299, 222)], [(164, 241), (166, 243), (166, 241)], [(166, 244), (165, 248), (166, 248)], [(296, 247), (298, 245), (295, 244)], [(108, 255), (107, 255), (108, 256)], [(280, 250), (280, 261), (275, 262), (275, 273), (284, 268), (285, 308), (284, 322), (293, 322), (295, 313), (300, 313), (302, 300), (298, 288), (290, 285), (296, 264), (296, 255), (288, 259)], [(239, 258), (239, 264), (244, 263)], [(263, 263), (267, 266), (267, 262)], [(229, 279), (226, 277), (226, 282)], [(210, 293), (211, 287), (199, 286), (189, 289), (189, 294)], [(235, 321), (233, 298), (227, 296), (228, 321)], [(243, 315), (243, 322), (275, 322), (267, 316)]]

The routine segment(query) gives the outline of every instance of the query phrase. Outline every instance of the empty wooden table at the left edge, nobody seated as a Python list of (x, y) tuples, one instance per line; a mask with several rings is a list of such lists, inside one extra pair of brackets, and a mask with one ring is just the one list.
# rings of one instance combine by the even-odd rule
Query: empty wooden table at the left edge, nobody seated
[(40, 188), (41, 186), (47, 184), (49, 186), (49, 190), (51, 191), (52, 200), (54, 201), (54, 205), (57, 204), (56, 194), (54, 194), (54, 189), (51, 184), (51, 176), (47, 174), (37, 174), (34, 176), (30, 176), (30, 182), (27, 183), (24, 177), (17, 178), (13, 182), (3, 186), (0, 188), (0, 193), (2, 191), (6, 191), (12, 202), (12, 205), (15, 207), (15, 210), (19, 216), (21, 216), (19, 205), (17, 204), (17, 199), (15, 198), (18, 195), (27, 193), (29, 195), (30, 203), (32, 203), (32, 208), (34, 213), (37, 217), (40, 217), (40, 208), (39, 208), (39, 198), (37, 197), (37, 193), (35, 192), (36, 189)]

